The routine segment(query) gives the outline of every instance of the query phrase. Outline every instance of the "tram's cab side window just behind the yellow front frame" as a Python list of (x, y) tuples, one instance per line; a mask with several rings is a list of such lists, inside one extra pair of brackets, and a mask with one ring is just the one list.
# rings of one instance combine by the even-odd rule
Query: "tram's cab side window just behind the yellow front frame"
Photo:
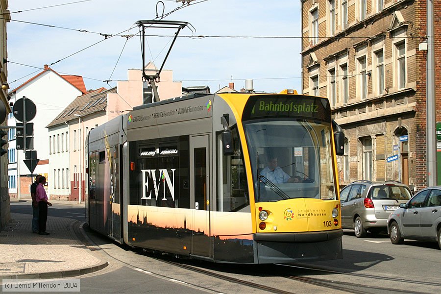
[(218, 191), (217, 211), (249, 212), (248, 185), (246, 181), (244, 156), (237, 134), (231, 129), (234, 155), (224, 156), (221, 133), (217, 136)]

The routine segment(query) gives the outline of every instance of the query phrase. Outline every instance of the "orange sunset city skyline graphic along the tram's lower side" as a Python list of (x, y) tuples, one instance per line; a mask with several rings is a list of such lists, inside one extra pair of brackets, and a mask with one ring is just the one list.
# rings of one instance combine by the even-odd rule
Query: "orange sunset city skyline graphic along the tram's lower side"
[[(184, 209), (170, 210), (167, 213), (163, 210), (137, 209), (136, 214), (131, 214), (128, 220), (130, 240), (137, 245), (158, 250), (201, 256), (213, 254), (216, 260), (228, 262), (253, 262), (254, 248), (251, 234), (208, 236), (208, 226), (196, 224), (194, 229), (189, 227), (192, 222), (192, 211), (187, 210), (184, 213)], [(131, 211), (133, 213), (133, 207)], [(204, 213), (204, 211), (200, 212)], [(155, 217), (149, 218), (149, 214), (152, 213), (155, 216), (160, 215), (160, 220)], [(210, 248), (214, 248), (212, 253), (209, 252)]]

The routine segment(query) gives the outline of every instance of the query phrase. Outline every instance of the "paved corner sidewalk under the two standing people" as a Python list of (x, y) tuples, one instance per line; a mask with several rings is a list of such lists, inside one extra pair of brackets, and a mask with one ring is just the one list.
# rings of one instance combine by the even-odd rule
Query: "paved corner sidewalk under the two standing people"
[[(11, 202), (18, 201), (11, 199)], [(84, 206), (84, 203), (72, 205)], [(33, 234), (31, 222), (32, 215), (11, 213), (11, 221), (0, 231), (0, 282), (4, 278), (73, 277), (108, 265), (107, 261), (91, 255), (80, 241), (85, 239), (81, 222), (49, 216), (49, 236)]]

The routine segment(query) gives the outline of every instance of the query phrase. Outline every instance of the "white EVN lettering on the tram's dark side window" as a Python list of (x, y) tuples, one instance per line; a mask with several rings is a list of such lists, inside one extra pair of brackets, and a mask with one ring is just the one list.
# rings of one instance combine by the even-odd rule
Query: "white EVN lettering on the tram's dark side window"
[[(159, 190), (162, 183), (162, 194), (163, 198), (162, 200), (166, 199), (166, 193), (165, 193), (165, 186), (167, 185), (167, 188), (170, 191), (170, 195), (172, 196), (172, 199), (174, 201), (174, 171), (176, 169), (171, 169), (172, 171), (172, 179), (170, 178), (170, 174), (166, 169), (161, 170), (141, 170), (143, 174), (143, 196), (141, 199), (151, 199), (151, 192), (152, 190), (155, 191), (155, 198), (158, 200)], [(158, 173), (157, 173), (158, 172)], [(148, 185), (149, 180), (151, 179), (153, 181), (153, 187), (150, 187)], [(151, 189), (153, 188), (153, 189)], [(148, 196), (147, 196), (148, 194)]]

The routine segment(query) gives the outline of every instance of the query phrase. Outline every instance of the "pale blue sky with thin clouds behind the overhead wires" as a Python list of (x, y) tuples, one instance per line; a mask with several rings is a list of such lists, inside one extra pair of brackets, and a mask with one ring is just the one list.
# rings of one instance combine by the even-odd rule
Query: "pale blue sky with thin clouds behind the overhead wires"
[[(164, 14), (182, 6), (182, 2), (175, 0), (162, 2)], [(60, 5), (65, 3), (72, 4)], [(11, 18), (16, 20), (7, 24), (10, 88), (40, 72), (38, 68), (44, 64), (61, 74), (82, 75), (87, 89), (110, 88), (117, 80), (126, 80), (128, 69), (142, 68), (140, 37), (105, 39), (100, 33), (139, 33), (137, 21), (155, 19), (156, 7), (159, 16), (162, 15), (163, 5), (157, 3), (156, 0), (9, 0)], [(47, 7), (52, 5), (60, 6)], [(196, 37), (299, 37), (300, 1), (196, 0), (165, 20), (189, 22), (196, 29), (194, 33), (188, 28), (180, 32), (179, 35), (194, 37), (179, 37), (164, 66), (173, 71), (173, 80), (182, 81), (184, 87), (208, 85), (215, 92), (233, 78), (236, 90), (245, 86), (245, 79), (253, 79), (255, 91), (291, 88), (300, 92), (301, 39)], [(127, 31), (129, 28), (132, 29)], [(153, 28), (146, 31), (151, 35), (174, 32)], [(104, 41), (86, 49), (101, 40)], [(171, 40), (172, 37), (147, 37), (146, 60), (153, 60), (159, 68)], [(80, 52), (73, 54), (77, 51)], [(108, 85), (104, 80), (111, 81)]]

